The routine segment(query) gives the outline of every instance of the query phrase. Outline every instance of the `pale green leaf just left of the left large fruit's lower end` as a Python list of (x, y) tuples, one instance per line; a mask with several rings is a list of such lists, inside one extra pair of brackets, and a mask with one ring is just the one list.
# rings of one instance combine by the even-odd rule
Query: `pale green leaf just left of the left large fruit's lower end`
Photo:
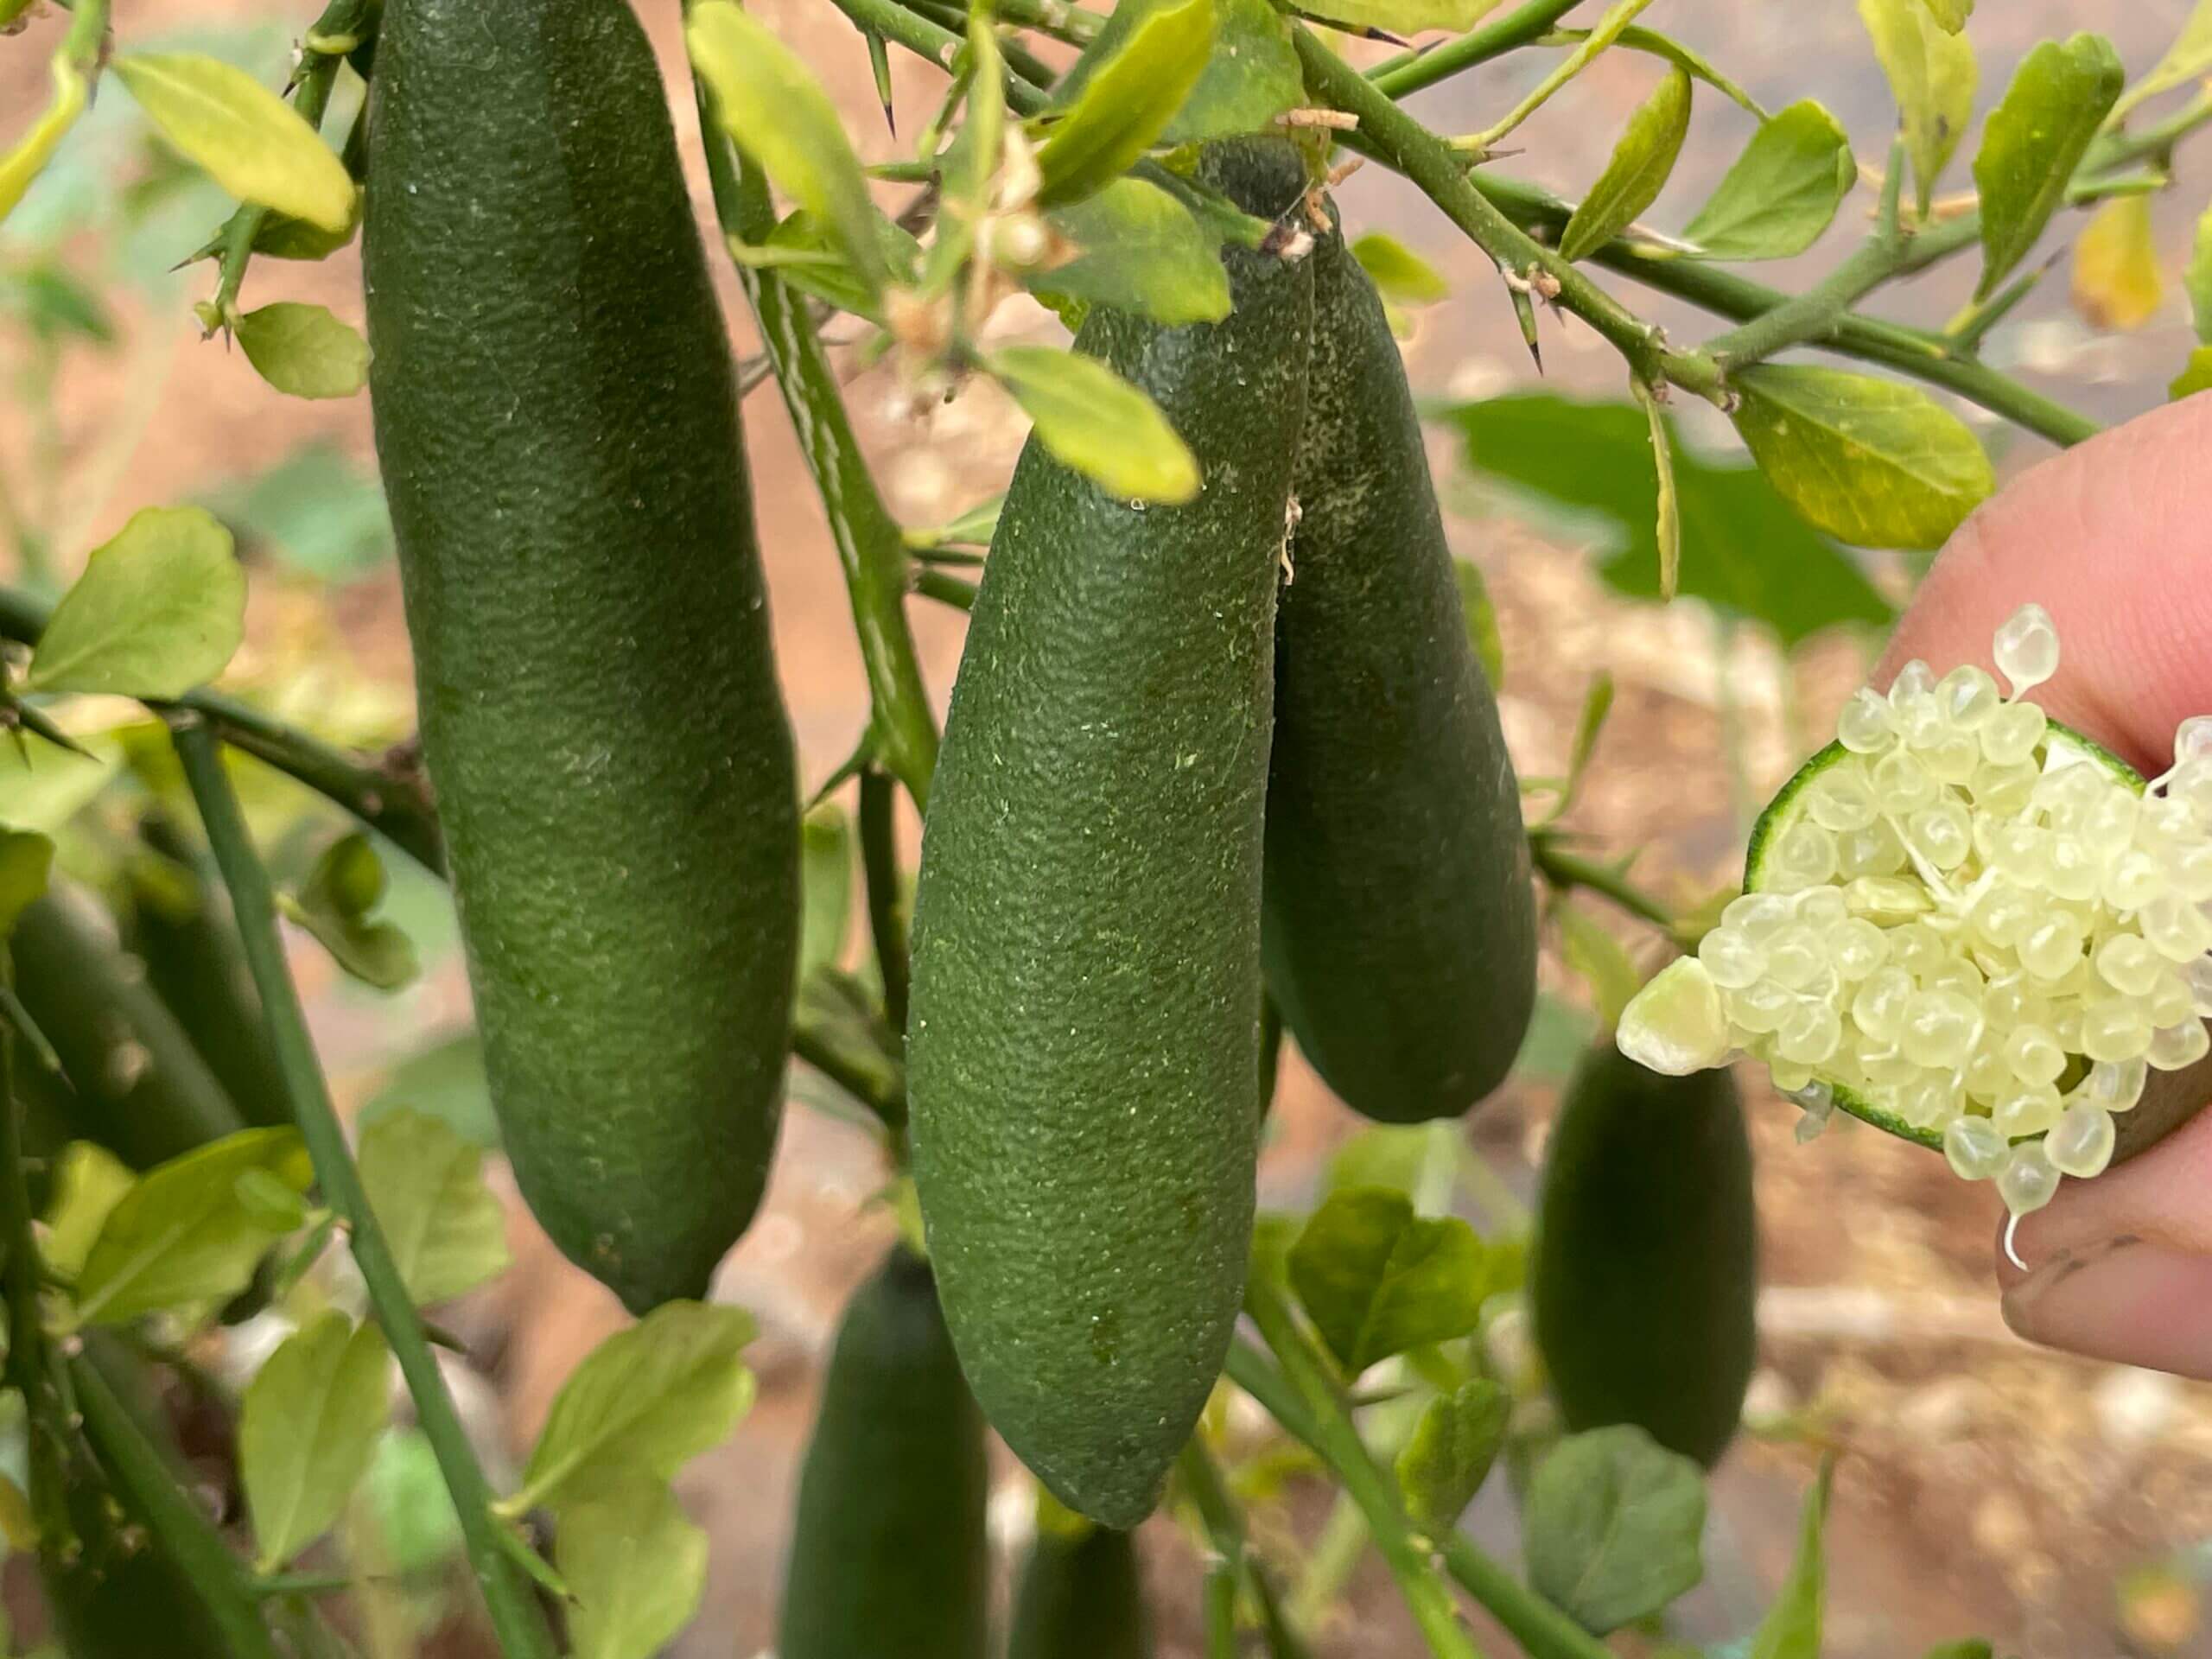
[(507, 1272), (507, 1210), (484, 1150), (427, 1113), (385, 1113), (361, 1133), (361, 1186), (414, 1303), (442, 1303)]

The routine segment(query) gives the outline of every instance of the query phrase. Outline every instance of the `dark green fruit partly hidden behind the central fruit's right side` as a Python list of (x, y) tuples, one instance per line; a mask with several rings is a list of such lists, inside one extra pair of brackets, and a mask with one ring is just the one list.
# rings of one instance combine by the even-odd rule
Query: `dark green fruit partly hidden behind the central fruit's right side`
[(1296, 495), (1274, 624), (1267, 989), (1347, 1106), (1458, 1117), (1504, 1079), (1535, 1006), (1528, 836), (1398, 343), (1334, 232), (1314, 252)]

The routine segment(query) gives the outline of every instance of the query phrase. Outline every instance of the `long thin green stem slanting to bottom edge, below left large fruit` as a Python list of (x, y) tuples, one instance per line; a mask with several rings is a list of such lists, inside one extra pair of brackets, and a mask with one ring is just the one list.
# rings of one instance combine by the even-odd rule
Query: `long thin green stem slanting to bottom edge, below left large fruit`
[(361, 1170), (354, 1168), (354, 1157), (345, 1146), (345, 1128), (330, 1104), (330, 1084), (323, 1079), (314, 1040), (307, 1035), (299, 987), (292, 984), (292, 973), (285, 967), (283, 940), (276, 931), (276, 894), (270, 887), (268, 869), (254, 854), (246, 814), (239, 812), (239, 799), (223, 772), (215, 734), (208, 721), (192, 712), (173, 712), (168, 719), (208, 845), (215, 849), (215, 863), (230, 889), (246, 964), (261, 993), (261, 1018), (292, 1095), (292, 1119), (299, 1124), (301, 1139), (307, 1141), (307, 1157), (314, 1161), (323, 1201), (345, 1223), (354, 1263), (361, 1267), (369, 1305), (376, 1310), (376, 1323), (383, 1325), (385, 1340), (392, 1343), (392, 1356), (414, 1396), (416, 1420), (438, 1458), (447, 1491), (453, 1495), (462, 1542), (478, 1588), (484, 1593), (484, 1606), (491, 1610), (491, 1628), (500, 1650), (507, 1659), (553, 1659), (553, 1635), (544, 1613), (538, 1608), (529, 1582), (500, 1546), (500, 1522), (491, 1513), (491, 1484), (460, 1427), (460, 1413), (445, 1387), (438, 1356), (422, 1334), (422, 1321), (407, 1296), (407, 1283), (400, 1279), (392, 1245), (385, 1241), (385, 1230), (369, 1208), (369, 1194), (361, 1186)]

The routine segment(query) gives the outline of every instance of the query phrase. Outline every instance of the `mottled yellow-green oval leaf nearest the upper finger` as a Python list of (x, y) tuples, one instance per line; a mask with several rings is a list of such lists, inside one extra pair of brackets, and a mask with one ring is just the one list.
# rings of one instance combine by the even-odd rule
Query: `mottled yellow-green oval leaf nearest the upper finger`
[(1732, 385), (1759, 471), (1845, 542), (1938, 549), (1997, 484), (1975, 436), (1920, 387), (1796, 365)]

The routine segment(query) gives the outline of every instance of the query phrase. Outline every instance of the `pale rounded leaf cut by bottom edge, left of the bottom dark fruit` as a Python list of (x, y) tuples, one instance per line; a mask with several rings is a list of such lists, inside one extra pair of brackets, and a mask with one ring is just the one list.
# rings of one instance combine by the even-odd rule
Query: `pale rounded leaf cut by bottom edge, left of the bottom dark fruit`
[(560, 1515), (571, 1659), (653, 1659), (699, 1613), (706, 1533), (666, 1480), (608, 1471)]

